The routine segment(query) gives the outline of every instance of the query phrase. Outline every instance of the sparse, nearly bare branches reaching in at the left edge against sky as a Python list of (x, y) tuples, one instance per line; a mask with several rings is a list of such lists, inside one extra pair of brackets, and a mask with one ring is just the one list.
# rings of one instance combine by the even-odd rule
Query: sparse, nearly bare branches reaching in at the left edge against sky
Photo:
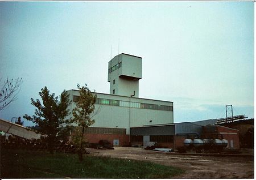
[(0, 110), (7, 108), (7, 106), (17, 99), (16, 95), (20, 91), (20, 85), (23, 83), (22, 78), (11, 79), (7, 78), (2, 83), (0, 79)]

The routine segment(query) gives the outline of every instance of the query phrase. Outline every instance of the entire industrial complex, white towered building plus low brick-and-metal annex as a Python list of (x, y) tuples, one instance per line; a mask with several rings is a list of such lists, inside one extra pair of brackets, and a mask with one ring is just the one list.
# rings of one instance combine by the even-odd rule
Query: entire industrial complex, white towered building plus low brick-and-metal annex
[[(90, 143), (108, 140), (113, 145), (146, 145), (157, 142), (168, 148), (183, 146), (185, 138), (213, 138), (218, 134), (228, 140), (228, 147), (239, 148), (237, 130), (224, 126), (206, 126), (216, 119), (174, 124), (171, 101), (139, 98), (139, 79), (142, 79), (142, 58), (129, 54), (116, 55), (108, 66), (110, 93), (96, 93), (95, 110), (91, 117), (95, 123), (86, 128), (85, 137)], [(78, 90), (69, 90), (76, 107)], [(70, 118), (70, 117), (68, 117)]]

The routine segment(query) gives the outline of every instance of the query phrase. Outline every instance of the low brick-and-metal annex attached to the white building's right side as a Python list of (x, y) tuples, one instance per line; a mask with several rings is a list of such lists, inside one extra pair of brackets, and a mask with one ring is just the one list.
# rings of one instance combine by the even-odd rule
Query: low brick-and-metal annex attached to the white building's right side
[(240, 148), (238, 130), (219, 125), (201, 126), (193, 122), (131, 127), (131, 144), (145, 146), (147, 142), (156, 142), (162, 147), (176, 149), (183, 147), (187, 138), (218, 139), (219, 135), (228, 141), (228, 148)]

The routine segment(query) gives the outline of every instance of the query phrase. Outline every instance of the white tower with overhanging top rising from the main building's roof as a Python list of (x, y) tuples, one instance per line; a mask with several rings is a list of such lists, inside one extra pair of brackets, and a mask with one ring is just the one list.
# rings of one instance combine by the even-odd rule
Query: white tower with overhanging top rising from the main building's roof
[(110, 82), (111, 95), (139, 97), (141, 78), (141, 57), (122, 53), (109, 61), (108, 82)]

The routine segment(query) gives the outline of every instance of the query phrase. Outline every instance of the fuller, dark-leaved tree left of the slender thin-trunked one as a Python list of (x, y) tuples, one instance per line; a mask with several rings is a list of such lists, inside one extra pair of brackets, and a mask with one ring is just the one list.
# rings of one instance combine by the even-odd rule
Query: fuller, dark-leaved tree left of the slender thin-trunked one
[(30, 117), (25, 114), (23, 117), (28, 121), (36, 123), (40, 128), (38, 131), (46, 135), (45, 140), (49, 144), (49, 150), (53, 152), (53, 145), (57, 140), (57, 136), (63, 130), (63, 125), (68, 125), (71, 123), (68, 120), (65, 120), (65, 117), (69, 114), (68, 105), (71, 104), (71, 101), (68, 98), (67, 91), (63, 91), (60, 96), (55, 94), (49, 94), (47, 87), (41, 89), (39, 92), (40, 97), (43, 100), (43, 104), (36, 99), (36, 101), (31, 98), (31, 104), (36, 107), (35, 115)]

